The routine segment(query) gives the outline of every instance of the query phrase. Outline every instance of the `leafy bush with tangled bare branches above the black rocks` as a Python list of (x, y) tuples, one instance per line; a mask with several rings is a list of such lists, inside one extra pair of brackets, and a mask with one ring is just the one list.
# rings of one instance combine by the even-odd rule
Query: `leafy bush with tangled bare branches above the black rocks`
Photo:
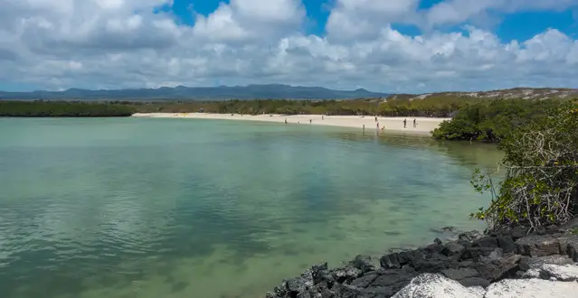
[(495, 185), (477, 171), (472, 184), (490, 191), (487, 210), (472, 214), (490, 228), (564, 224), (578, 214), (578, 101), (567, 101), (507, 133), (505, 178)]

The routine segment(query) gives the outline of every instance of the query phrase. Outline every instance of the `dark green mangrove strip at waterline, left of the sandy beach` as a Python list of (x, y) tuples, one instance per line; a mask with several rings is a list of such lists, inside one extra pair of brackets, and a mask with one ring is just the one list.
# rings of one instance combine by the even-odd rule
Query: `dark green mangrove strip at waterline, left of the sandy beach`
[(0, 101), (0, 116), (131, 116), (134, 107), (118, 103)]

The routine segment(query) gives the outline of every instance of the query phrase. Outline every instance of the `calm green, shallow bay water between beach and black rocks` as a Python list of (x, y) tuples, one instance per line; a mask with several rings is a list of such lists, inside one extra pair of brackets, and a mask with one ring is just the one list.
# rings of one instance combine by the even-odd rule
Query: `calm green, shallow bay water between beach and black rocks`
[(481, 228), (492, 146), (320, 126), (0, 119), (0, 296), (256, 298)]

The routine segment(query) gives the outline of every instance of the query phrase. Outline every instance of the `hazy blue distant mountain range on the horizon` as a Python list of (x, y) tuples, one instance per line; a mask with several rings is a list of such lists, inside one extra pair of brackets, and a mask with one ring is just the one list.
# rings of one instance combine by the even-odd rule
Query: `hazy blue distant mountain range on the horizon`
[(89, 90), (70, 88), (64, 91), (4, 92), (0, 99), (65, 99), (65, 100), (224, 100), (224, 99), (348, 99), (385, 98), (389, 94), (358, 88), (354, 91), (322, 87), (289, 85), (249, 85), (235, 87), (137, 88)]

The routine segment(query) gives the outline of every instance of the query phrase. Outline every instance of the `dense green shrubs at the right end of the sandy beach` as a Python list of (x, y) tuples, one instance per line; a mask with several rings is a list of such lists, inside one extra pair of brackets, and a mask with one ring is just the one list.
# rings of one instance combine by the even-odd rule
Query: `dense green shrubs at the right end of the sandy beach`
[(546, 116), (560, 100), (507, 99), (478, 101), (461, 107), (453, 119), (444, 121), (432, 135), (447, 140), (499, 142), (516, 127)]

